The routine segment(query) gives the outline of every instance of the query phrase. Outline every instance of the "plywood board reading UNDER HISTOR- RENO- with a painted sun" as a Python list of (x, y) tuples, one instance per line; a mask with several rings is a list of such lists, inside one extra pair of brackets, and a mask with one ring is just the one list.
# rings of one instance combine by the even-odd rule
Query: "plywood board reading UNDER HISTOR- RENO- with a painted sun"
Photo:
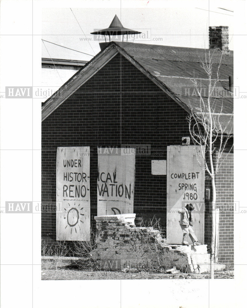
[(90, 148), (57, 150), (57, 240), (90, 239)]

